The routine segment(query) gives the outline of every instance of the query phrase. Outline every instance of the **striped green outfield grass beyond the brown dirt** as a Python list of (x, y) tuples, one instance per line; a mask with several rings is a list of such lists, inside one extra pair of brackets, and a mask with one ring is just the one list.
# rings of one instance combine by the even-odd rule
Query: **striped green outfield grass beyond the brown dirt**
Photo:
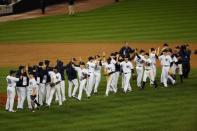
[(122, 0), (76, 16), (0, 23), (2, 42), (197, 41), (196, 0)]

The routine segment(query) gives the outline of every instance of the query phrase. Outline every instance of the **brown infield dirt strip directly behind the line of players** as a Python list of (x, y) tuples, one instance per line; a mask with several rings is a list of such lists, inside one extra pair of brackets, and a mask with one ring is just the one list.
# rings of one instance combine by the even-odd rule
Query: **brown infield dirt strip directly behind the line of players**
[[(18, 65), (33, 65), (39, 61), (49, 59), (52, 64), (57, 59), (63, 60), (65, 63), (71, 57), (82, 57), (87, 60), (88, 56), (97, 54), (109, 55), (111, 52), (119, 51), (123, 43), (49, 43), (49, 44), (0, 44), (0, 67), (17, 67)], [(162, 43), (132, 43), (132, 48), (147, 50), (151, 47), (162, 47)], [(174, 48), (176, 43), (170, 44)], [(197, 49), (197, 44), (190, 44), (192, 52)], [(192, 67), (197, 67), (197, 55), (192, 54)]]

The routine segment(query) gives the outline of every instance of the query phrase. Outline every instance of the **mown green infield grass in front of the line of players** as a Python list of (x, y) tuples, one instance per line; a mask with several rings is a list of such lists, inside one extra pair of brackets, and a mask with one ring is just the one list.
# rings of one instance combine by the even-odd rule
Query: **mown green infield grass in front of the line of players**
[(109, 97), (103, 96), (106, 86), (103, 78), (99, 94), (90, 100), (69, 99), (61, 108), (53, 103), (50, 110), (36, 113), (1, 110), (1, 130), (196, 131), (196, 74), (197, 70), (192, 70), (189, 79), (173, 88), (153, 89), (147, 85), (145, 91), (138, 91), (134, 82), (134, 92), (126, 95), (119, 92)]

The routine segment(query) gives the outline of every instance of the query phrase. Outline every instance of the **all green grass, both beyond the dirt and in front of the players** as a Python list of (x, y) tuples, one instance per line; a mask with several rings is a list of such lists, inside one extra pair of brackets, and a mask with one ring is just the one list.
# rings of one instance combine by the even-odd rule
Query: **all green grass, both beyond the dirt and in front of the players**
[[(76, 16), (0, 23), (2, 43), (181, 41), (197, 42), (196, 0), (122, 0), (118, 4)], [(0, 93), (6, 93), (10, 68), (0, 68)], [(158, 71), (157, 79), (159, 80)], [(62, 107), (35, 113), (7, 113), (0, 109), (1, 131), (196, 131), (197, 69), (174, 87), (110, 94), (104, 97), (102, 77), (99, 94), (78, 102), (68, 99)], [(66, 88), (67, 88), (66, 83)], [(66, 92), (67, 93), (67, 92)], [(0, 100), (1, 101), (1, 100)]]

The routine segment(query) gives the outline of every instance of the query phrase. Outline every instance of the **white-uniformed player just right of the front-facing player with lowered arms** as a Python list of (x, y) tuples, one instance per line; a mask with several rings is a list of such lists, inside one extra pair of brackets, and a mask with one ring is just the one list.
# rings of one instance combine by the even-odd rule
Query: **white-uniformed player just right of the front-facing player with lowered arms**
[(134, 62), (136, 63), (136, 73), (137, 73), (137, 86), (138, 88), (142, 88), (142, 77), (144, 72), (143, 67), (143, 59), (144, 59), (144, 50), (140, 50), (140, 54), (138, 55), (136, 53), (136, 56), (134, 58)]

